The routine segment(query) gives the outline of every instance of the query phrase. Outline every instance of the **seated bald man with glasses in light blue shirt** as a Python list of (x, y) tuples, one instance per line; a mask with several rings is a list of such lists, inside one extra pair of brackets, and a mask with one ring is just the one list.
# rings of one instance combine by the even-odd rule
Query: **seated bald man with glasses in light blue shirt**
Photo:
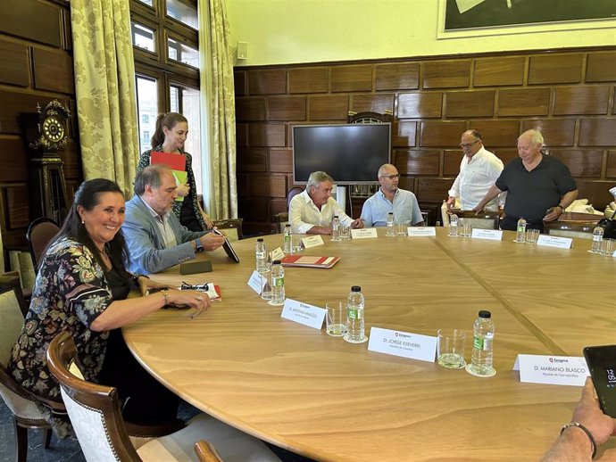
[(413, 227), (423, 224), (415, 194), (398, 187), (400, 174), (390, 163), (379, 168), (380, 189), (363, 202), (362, 221), (367, 227), (386, 227), (387, 214), (394, 213), (395, 223), (408, 221)]

